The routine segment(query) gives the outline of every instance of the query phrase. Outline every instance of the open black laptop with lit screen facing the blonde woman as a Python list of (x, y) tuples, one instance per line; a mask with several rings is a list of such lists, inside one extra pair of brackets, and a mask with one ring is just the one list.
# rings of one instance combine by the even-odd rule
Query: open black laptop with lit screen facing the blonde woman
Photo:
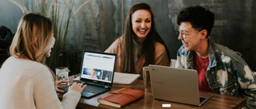
[[(91, 97), (112, 88), (116, 54), (84, 51), (79, 82), (87, 84), (82, 96)], [(69, 86), (61, 88), (68, 91)]]

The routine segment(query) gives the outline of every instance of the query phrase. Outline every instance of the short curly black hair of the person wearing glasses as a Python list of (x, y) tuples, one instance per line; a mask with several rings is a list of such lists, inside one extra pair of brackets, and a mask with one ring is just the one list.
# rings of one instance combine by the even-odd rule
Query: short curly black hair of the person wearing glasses
[(192, 28), (196, 30), (206, 29), (208, 37), (214, 27), (214, 13), (202, 6), (190, 6), (178, 14), (177, 24), (180, 25), (183, 21), (190, 21)]

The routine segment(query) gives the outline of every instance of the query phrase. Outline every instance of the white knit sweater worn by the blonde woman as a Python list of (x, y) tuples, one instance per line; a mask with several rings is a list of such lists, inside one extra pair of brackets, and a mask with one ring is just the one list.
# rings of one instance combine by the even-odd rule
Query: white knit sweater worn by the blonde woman
[(62, 99), (54, 90), (45, 65), (11, 56), (0, 71), (0, 109), (74, 109), (81, 94), (68, 91)]

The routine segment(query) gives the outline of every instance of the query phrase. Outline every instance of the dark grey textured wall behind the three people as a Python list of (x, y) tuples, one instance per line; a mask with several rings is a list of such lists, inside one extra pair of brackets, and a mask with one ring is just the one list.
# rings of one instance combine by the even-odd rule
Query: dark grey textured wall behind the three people
[[(23, 0), (17, 0), (25, 5)], [(58, 1), (65, 5), (67, 0)], [(50, 6), (48, 1), (48, 7)], [(86, 0), (74, 0), (73, 14)], [(66, 42), (66, 54), (78, 53), (73, 63), (76, 73), (80, 70), (84, 49), (104, 52), (122, 35), (126, 14), (139, 2), (148, 3), (154, 13), (158, 33), (166, 42), (171, 58), (176, 59), (178, 41), (176, 19), (178, 13), (188, 6), (200, 5), (214, 12), (215, 23), (210, 38), (216, 43), (243, 54), (246, 62), (256, 71), (256, 2), (254, 0), (93, 0), (78, 15), (72, 15)], [(16, 32), (22, 11), (14, 3), (0, 3), (0, 25)], [(5, 10), (5, 11), (3, 11)]]

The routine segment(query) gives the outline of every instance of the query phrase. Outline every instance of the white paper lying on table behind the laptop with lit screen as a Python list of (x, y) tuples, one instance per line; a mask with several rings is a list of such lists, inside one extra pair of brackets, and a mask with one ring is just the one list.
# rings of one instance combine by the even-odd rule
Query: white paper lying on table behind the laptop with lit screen
[[(114, 72), (114, 80), (113, 84), (132, 84), (134, 80), (137, 80), (139, 74), (131, 74), (131, 73), (122, 73), (122, 72)], [(76, 77), (73, 80), (80, 80), (80, 76)]]

